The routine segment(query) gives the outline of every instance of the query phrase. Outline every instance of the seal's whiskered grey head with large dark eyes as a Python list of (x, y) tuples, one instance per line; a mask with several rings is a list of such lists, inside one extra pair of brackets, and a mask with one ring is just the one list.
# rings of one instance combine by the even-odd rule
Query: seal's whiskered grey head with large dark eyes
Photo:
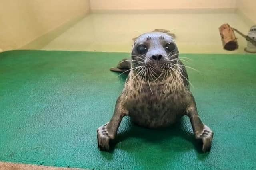
[(148, 76), (144, 78), (152, 79), (166, 72), (166, 67), (175, 66), (178, 54), (178, 48), (170, 35), (161, 32), (142, 34), (136, 39), (132, 49), (132, 71), (138, 72), (140, 76), (146, 75), (143, 72), (148, 72)]

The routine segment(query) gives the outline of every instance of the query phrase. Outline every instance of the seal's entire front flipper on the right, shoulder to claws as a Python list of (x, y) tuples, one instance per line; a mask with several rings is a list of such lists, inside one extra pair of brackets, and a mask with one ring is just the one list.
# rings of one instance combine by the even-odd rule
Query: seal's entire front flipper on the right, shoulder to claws
[(192, 106), (188, 107), (187, 114), (190, 119), (195, 138), (202, 141), (202, 151), (210, 151), (212, 147), (213, 131), (202, 123), (197, 113), (195, 102)]

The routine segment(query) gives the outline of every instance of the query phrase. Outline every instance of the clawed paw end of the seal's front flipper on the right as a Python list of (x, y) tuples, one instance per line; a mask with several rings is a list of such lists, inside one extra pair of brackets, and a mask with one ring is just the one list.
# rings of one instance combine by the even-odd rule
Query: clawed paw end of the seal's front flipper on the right
[(198, 135), (196, 135), (196, 139), (201, 140), (203, 143), (202, 151), (204, 153), (211, 150), (212, 138), (213, 138), (213, 132), (206, 125), (204, 125), (204, 130), (201, 133), (199, 133)]

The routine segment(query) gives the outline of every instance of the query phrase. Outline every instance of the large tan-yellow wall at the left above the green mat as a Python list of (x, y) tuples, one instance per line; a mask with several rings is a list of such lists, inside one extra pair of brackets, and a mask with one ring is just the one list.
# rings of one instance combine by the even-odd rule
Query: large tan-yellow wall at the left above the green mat
[(0, 49), (18, 49), (89, 10), (89, 0), (0, 0)]

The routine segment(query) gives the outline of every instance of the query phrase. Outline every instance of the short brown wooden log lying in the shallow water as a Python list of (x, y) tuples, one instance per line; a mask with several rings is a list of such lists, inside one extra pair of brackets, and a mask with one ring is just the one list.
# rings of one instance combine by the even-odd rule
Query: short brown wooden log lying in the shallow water
[(223, 48), (228, 51), (233, 51), (238, 48), (237, 38), (234, 30), (228, 24), (223, 24), (219, 27), (220, 37)]

